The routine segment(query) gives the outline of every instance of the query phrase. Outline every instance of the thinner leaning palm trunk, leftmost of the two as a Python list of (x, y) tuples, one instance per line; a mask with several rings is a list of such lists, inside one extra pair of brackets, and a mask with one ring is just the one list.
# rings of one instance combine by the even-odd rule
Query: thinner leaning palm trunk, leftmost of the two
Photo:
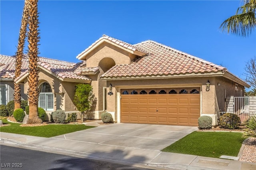
[[(25, 1), (21, 26), (20, 26), (20, 35), (18, 40), (18, 47), (16, 52), (16, 65), (15, 65), (15, 79), (20, 76), (21, 64), (22, 64), (22, 55), (25, 45), (26, 31), (28, 25), (28, 3)], [(14, 82), (14, 110), (20, 108), (20, 85)]]

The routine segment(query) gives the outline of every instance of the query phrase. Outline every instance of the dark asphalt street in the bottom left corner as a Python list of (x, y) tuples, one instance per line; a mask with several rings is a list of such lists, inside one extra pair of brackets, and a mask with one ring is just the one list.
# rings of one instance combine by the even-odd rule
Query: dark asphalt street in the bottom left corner
[(149, 170), (0, 145), (1, 170)]

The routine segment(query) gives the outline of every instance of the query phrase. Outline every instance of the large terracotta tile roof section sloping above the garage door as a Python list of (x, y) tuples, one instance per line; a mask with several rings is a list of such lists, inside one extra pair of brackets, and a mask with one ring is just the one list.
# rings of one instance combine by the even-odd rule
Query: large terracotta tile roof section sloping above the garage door
[(102, 78), (182, 75), (188, 73), (217, 73), (227, 69), (198, 57), (151, 40), (134, 46), (148, 51), (127, 65), (115, 65)]

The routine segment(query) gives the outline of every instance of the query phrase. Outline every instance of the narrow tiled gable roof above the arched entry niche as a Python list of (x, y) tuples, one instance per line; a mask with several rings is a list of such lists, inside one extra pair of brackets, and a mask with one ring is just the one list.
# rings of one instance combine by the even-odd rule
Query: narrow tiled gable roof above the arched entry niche
[(101, 40), (109, 40), (110, 42), (115, 43), (116, 45), (119, 45), (120, 47), (124, 47), (126, 49), (130, 49), (132, 51), (138, 51), (140, 53), (144, 53), (146, 54), (147, 52), (143, 49), (141, 49), (140, 47), (137, 47), (135, 45), (132, 45), (130, 43), (126, 43), (126, 42), (122, 42), (120, 40), (117, 40), (115, 38), (103, 35), (100, 39), (98, 39), (96, 42), (94, 42), (92, 45), (90, 45), (88, 48), (86, 48), (84, 51), (82, 51), (82, 53), (78, 54), (78, 56), (76, 58), (79, 58), (81, 55), (83, 55), (84, 53), (86, 53), (87, 51), (89, 51), (90, 49), (92, 49), (92, 47), (94, 47), (98, 42), (100, 42)]

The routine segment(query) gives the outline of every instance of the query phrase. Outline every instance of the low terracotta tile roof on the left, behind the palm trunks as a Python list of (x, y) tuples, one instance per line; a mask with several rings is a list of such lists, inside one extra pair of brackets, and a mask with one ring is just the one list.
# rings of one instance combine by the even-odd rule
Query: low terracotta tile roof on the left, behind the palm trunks
[[(0, 66), (1, 78), (14, 79), (15, 60), (16, 60), (15, 56), (0, 55), (0, 63), (4, 64)], [(83, 70), (86, 67), (86, 62), (71, 63), (71, 62), (60, 61), (56, 59), (38, 57), (38, 66), (41, 66), (44, 69), (47, 69), (48, 71), (50, 71), (51, 73), (55, 74), (57, 77), (60, 77), (62, 79), (68, 78), (68, 79), (90, 80), (86, 76), (76, 74), (76, 72)], [(25, 75), (27, 72), (28, 72), (28, 55), (24, 54), (22, 58), (22, 72), (17, 79)]]

